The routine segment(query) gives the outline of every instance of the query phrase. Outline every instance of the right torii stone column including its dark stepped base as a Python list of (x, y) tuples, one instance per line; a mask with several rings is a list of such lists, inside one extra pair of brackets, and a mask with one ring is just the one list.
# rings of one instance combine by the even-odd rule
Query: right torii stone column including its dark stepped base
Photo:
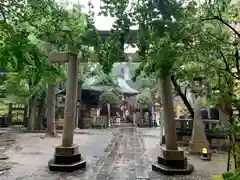
[(193, 166), (188, 164), (184, 151), (177, 146), (176, 125), (174, 120), (171, 77), (160, 80), (161, 99), (165, 128), (165, 144), (160, 147), (157, 162), (152, 164), (152, 170), (164, 174), (190, 174)]

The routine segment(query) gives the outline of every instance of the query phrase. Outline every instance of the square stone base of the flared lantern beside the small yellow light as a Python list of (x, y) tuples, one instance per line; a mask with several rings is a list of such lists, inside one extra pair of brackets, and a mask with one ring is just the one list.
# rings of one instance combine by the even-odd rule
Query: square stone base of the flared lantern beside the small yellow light
[(211, 151), (209, 149), (209, 144), (208, 142), (205, 142), (205, 141), (190, 142), (188, 146), (188, 152), (192, 155), (201, 155), (203, 148), (206, 148), (208, 151), (208, 154), (211, 154)]

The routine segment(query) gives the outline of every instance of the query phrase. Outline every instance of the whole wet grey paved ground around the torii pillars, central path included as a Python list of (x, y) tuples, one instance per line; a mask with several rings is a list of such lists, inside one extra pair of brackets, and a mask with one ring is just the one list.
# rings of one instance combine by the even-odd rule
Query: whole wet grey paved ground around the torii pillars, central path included
[(152, 172), (151, 163), (159, 152), (160, 130), (122, 127), (80, 130), (74, 135), (74, 142), (86, 158), (87, 168), (73, 173), (50, 172), (47, 162), (61, 138), (41, 139), (43, 135), (17, 135), (14, 147), (5, 152), (9, 159), (4, 162), (11, 164), (11, 169), (0, 173), (0, 180), (208, 180), (225, 170), (224, 158), (216, 166), (214, 161), (206, 163), (199, 161), (199, 157), (190, 157), (190, 162), (196, 165), (196, 171), (190, 176)]

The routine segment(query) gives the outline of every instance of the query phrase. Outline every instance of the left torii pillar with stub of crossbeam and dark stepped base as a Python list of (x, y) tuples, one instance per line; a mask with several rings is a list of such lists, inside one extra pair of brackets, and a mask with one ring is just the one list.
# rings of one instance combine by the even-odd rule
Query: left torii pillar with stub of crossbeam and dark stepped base
[(76, 103), (77, 103), (77, 53), (52, 53), (49, 61), (68, 62), (67, 90), (64, 111), (64, 129), (62, 144), (55, 147), (54, 158), (49, 160), (50, 171), (72, 172), (86, 167), (86, 161), (82, 159), (79, 146), (73, 144), (75, 128)]

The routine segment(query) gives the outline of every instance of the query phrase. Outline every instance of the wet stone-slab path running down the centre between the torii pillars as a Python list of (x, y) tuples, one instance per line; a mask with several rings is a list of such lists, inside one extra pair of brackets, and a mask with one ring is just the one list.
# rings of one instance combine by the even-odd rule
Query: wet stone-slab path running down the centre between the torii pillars
[(149, 179), (142, 143), (135, 128), (120, 129), (96, 163), (102, 165), (96, 180)]

